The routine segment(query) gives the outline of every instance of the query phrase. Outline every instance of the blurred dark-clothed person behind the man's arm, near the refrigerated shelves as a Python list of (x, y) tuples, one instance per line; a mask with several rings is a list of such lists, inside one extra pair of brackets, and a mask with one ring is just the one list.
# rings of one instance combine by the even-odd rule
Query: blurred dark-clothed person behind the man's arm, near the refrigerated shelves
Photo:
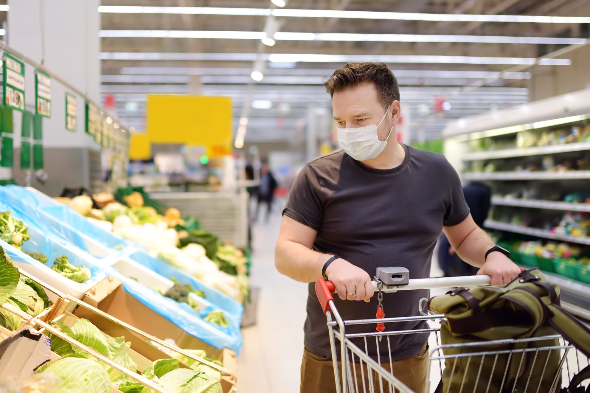
[[(483, 228), (483, 223), (490, 211), (491, 189), (481, 182), (472, 182), (463, 187), (463, 196), (471, 210), (473, 221), (478, 227)], [(444, 234), (441, 235), (438, 243), (438, 265), (445, 277), (477, 274), (478, 268), (461, 260)]]

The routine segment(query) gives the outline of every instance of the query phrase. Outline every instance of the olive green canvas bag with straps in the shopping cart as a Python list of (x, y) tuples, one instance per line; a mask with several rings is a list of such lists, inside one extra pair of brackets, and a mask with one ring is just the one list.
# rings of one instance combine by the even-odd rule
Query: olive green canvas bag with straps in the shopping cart
[[(444, 348), (444, 355), (474, 354), (445, 359), (442, 392), (549, 392), (552, 386), (560, 386), (561, 351), (546, 349), (562, 346), (557, 338), (525, 342), (510, 339), (559, 332), (590, 356), (590, 330), (560, 307), (559, 287), (548, 283), (538, 268), (523, 270), (504, 286), (458, 288), (432, 297), (428, 308), (445, 315), (441, 322), (442, 344), (457, 345)], [(504, 339), (508, 341), (486, 345)], [(590, 367), (579, 372), (562, 392), (583, 392), (576, 386), (588, 378)]]

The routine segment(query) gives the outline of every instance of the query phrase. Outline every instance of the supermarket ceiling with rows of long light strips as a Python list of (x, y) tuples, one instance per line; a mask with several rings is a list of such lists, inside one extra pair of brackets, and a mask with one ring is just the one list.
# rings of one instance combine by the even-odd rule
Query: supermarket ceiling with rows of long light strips
[[(555, 17), (578, 15), (576, 12), (586, 4), (587, 0), (290, 0), (283, 9)], [(234, 132), (244, 106), (251, 107), (251, 100), (271, 101), (270, 109), (251, 109), (248, 113), (245, 141), (252, 143), (292, 140), (309, 119), (310, 110), (330, 108), (323, 82), (346, 61), (359, 60), (388, 61), (401, 86), (402, 111), (409, 113), (412, 139), (434, 139), (440, 137), (448, 119), (525, 103), (529, 78), (551, 67), (566, 67), (535, 66), (496, 79), (499, 71), (514, 67), (514, 57), (518, 58), (516, 63), (530, 63), (539, 55), (581, 42), (568, 39), (588, 38), (588, 24), (577, 21), (399, 20), (408, 19), (408, 14), (359, 12), (346, 14), (346, 18), (277, 16), (278, 31), (283, 35), (274, 35), (276, 44), (267, 47), (261, 44), (260, 35), (264, 37), (268, 19), (264, 13), (276, 8), (270, 0), (103, 0), (102, 5), (102, 11), (108, 12), (101, 13), (101, 89), (103, 98), (107, 94), (114, 96), (118, 117), (125, 125), (136, 130), (145, 128), (146, 95), (152, 93), (230, 96), (234, 103)], [(163, 13), (180, 12), (173, 8), (148, 11), (156, 13), (142, 9), (144, 12), (138, 13), (139, 8), (110, 12), (113, 9), (105, 6), (189, 8), (182, 10), (185, 13)], [(250, 13), (263, 15), (212, 15), (227, 10), (210, 7), (239, 8), (226, 12), (230, 14), (253, 11)], [(445, 19), (444, 15), (439, 19)], [(288, 34), (292, 32), (307, 34)], [(329, 35), (334, 33), (357, 35)], [(511, 37), (554, 40), (522, 44), (513, 42), (522, 38)], [(457, 40), (472, 42), (415, 42)], [(254, 82), (250, 73), (257, 58), (258, 66), (264, 67), (264, 78)], [(458, 93), (461, 87), (481, 78), (494, 80), (485, 87)], [(448, 102), (448, 110), (434, 114), (434, 101), (440, 96)]]

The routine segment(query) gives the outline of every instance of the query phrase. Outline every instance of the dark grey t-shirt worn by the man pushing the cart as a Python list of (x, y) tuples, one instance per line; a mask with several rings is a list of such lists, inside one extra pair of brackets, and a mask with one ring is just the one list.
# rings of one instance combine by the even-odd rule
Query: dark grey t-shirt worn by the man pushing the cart
[[(457, 172), (444, 156), (402, 145), (404, 162), (393, 169), (372, 169), (342, 150), (307, 163), (289, 195), (283, 214), (317, 231), (314, 250), (345, 258), (375, 276), (377, 267), (403, 266), (410, 278), (430, 277), (432, 250), (442, 226), (452, 226), (469, 214)], [(418, 302), (428, 290), (383, 294), (385, 317), (419, 315)], [(374, 318), (370, 303), (340, 300), (343, 319)], [(425, 322), (388, 323), (385, 330), (421, 329)], [(374, 325), (350, 325), (346, 333), (375, 332)], [(326, 316), (309, 284), (305, 346), (331, 356)], [(395, 335), (379, 345), (381, 359), (403, 359), (419, 353), (428, 335)], [(368, 352), (376, 359), (375, 338)], [(365, 349), (362, 339), (353, 342)], [(339, 347), (339, 345), (337, 345)], [(337, 351), (339, 353), (339, 351)], [(385, 358), (383, 357), (385, 356)], [(383, 360), (382, 360), (383, 361)]]

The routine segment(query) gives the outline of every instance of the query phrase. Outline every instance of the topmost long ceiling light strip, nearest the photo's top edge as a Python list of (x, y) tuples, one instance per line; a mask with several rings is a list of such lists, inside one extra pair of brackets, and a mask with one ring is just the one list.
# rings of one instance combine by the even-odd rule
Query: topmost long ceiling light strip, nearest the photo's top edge
[[(285, 3), (284, 0), (277, 2)], [(278, 5), (273, 1), (273, 4)], [(8, 11), (8, 5), (0, 6)], [(4, 9), (5, 8), (5, 9)], [(482, 14), (424, 14), (419, 12), (348, 11), (336, 9), (284, 9), (284, 8), (230, 8), (230, 7), (171, 7), (171, 6), (125, 6), (101, 5), (99, 12), (119, 14), (193, 14), (193, 15), (238, 15), (299, 17), (299, 18), (348, 18), (388, 19), (398, 21), (430, 22), (522, 22), (522, 23), (590, 23), (590, 17), (549, 17), (540, 15), (482, 15)]]

